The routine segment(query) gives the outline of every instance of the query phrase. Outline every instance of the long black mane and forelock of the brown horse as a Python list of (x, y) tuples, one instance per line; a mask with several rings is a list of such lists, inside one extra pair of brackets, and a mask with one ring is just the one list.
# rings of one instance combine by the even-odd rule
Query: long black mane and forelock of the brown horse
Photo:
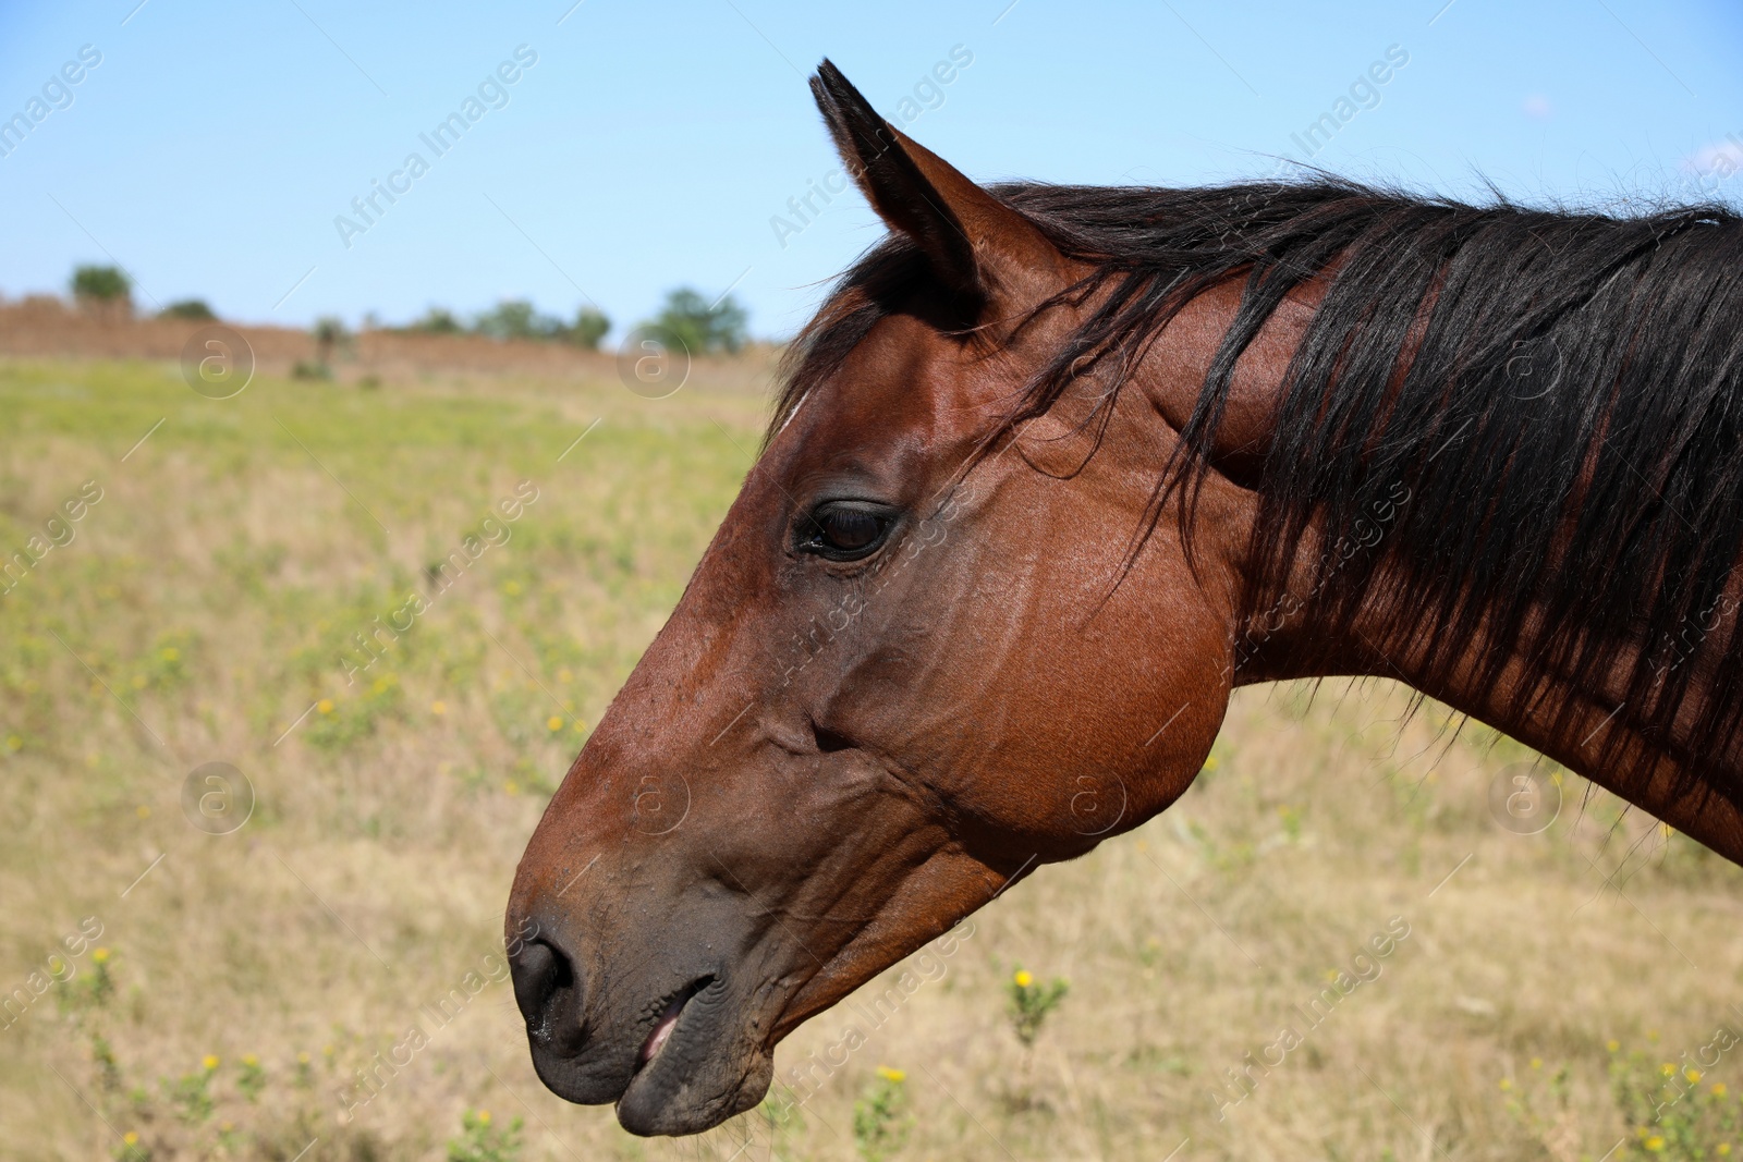
[[(1522, 697), (1548, 723), (1577, 711), (1548, 700), (1551, 679), (1626, 678), (1618, 716), (1682, 761), (1682, 791), (1743, 805), (1743, 786), (1698, 772), (1743, 719), (1743, 650), (1729, 648), (1743, 594), (1727, 592), (1743, 551), (1743, 220), (1473, 207), (1326, 179), (995, 193), (1093, 267), (1060, 300), (1100, 294), (1009, 425), (1077, 376), (1117, 376), (1194, 294), (1241, 279), (1185, 455), (1161, 465), (1154, 528), (1170, 490), (1196, 497), (1236, 359), (1285, 294), (1323, 277), (1258, 481), (1246, 615), (1288, 601), (1292, 563), (1323, 528), (1314, 625), (1349, 629), (1389, 599), (1368, 646), (1384, 659), (1426, 632), (1429, 686), (1473, 641), (1483, 683), (1523, 646), (1541, 678)], [(924, 277), (901, 239), (861, 258), (793, 345), (774, 422)], [(1382, 577), (1400, 592), (1377, 594)]]

